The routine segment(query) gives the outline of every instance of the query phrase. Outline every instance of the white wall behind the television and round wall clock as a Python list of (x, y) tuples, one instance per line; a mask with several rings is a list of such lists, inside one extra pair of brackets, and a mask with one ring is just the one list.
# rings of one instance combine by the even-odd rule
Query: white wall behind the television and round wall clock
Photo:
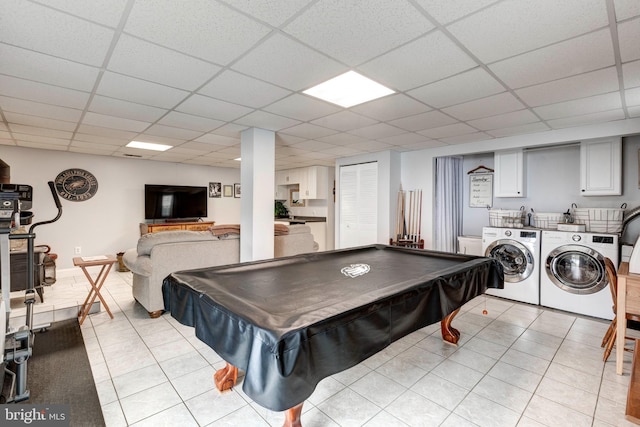
[[(208, 186), (240, 182), (240, 169), (215, 168), (150, 160), (94, 156), (1, 146), (0, 159), (11, 167), (11, 183), (33, 187), (34, 222), (51, 219), (56, 208), (48, 181), (69, 168), (85, 169), (98, 180), (98, 192), (84, 202), (62, 200), (62, 218), (36, 227), (36, 244), (58, 254), (58, 268), (73, 266), (74, 248), (83, 256), (115, 254), (135, 247), (144, 221), (144, 184)], [(240, 200), (209, 198), (205, 220), (240, 223)]]

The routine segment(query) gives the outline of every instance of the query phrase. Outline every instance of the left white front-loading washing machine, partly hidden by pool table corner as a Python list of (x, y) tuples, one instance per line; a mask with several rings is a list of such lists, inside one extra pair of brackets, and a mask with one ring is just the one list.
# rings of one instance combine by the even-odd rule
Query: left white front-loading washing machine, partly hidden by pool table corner
[(488, 294), (529, 304), (540, 304), (540, 237), (536, 228), (482, 229), (482, 253), (500, 261), (504, 289)]

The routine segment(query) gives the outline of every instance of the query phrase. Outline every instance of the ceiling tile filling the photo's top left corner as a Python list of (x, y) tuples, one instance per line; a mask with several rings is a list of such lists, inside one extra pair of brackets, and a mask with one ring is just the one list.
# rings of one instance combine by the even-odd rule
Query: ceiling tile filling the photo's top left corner
[(2, 2), (0, 40), (82, 64), (101, 66), (113, 30), (23, 0)]

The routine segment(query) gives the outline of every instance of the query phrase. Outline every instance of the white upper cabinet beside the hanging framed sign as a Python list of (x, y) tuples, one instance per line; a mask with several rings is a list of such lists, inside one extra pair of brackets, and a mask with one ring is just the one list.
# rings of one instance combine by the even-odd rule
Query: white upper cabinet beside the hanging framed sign
[(522, 150), (496, 151), (494, 197), (524, 197), (524, 153)]

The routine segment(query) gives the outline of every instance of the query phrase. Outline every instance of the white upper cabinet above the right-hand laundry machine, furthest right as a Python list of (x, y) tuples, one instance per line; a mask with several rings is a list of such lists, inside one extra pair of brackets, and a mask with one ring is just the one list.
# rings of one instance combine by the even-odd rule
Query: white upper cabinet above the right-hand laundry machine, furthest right
[(580, 143), (580, 194), (622, 194), (622, 138), (602, 138)]

